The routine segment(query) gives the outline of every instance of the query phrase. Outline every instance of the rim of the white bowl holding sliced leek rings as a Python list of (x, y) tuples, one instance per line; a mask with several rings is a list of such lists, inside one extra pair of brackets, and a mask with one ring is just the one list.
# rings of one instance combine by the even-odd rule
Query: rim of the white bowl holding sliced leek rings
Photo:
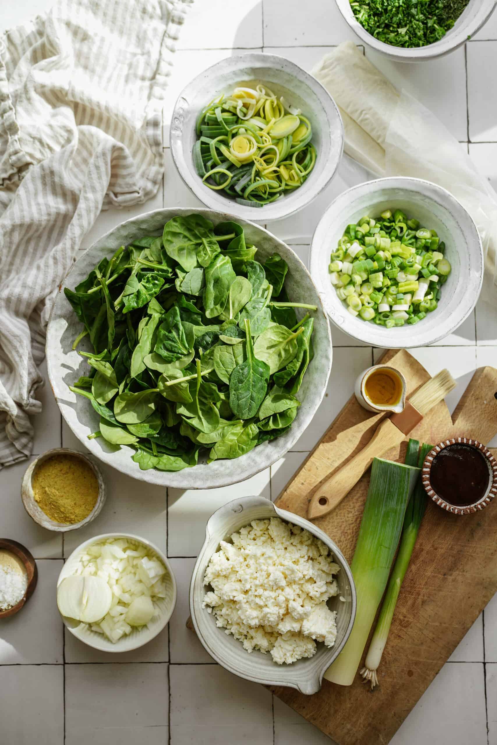
[[(311, 89), (312, 92), (317, 95), (317, 98), (321, 101), (323, 110), (326, 112), (326, 118), (328, 120), (330, 129), (334, 124), (331, 118), (331, 114), (333, 113), (338, 136), (341, 143), (340, 153), (338, 155), (338, 158), (336, 159), (334, 168), (326, 169), (326, 171), (323, 172), (323, 182), (320, 183), (317, 189), (312, 187), (308, 188), (307, 191), (301, 191), (300, 188), (295, 189), (295, 191), (292, 192), (292, 194), (289, 194), (286, 199), (285, 197), (283, 197), (282, 200), (276, 200), (276, 202), (265, 205), (260, 209), (254, 209), (252, 207), (240, 205), (235, 202), (235, 200), (229, 199), (229, 197), (226, 197), (222, 194), (218, 194), (217, 191), (212, 191), (212, 189), (210, 189), (208, 186), (204, 186), (202, 181), (200, 180), (200, 177), (197, 177), (197, 175), (194, 174), (193, 171), (191, 171), (189, 165), (186, 162), (186, 144), (183, 133), (183, 110), (184, 103), (188, 103), (189, 91), (191, 87), (194, 87), (204, 75), (209, 74), (210, 72), (217, 71), (218, 68), (222, 68), (223, 66), (225, 66), (227, 62), (229, 62), (229, 67), (233, 69), (236, 68), (236, 66), (241, 66), (242, 60), (243, 67), (260, 67), (263, 66), (263, 64), (264, 66), (272, 65), (275, 68), (277, 68), (278, 66), (288, 67), (288, 72), (290, 72), (291, 75), (301, 80), (303, 83), (306, 83), (308, 89)], [(219, 60), (214, 65), (209, 66), (208, 68), (203, 70), (203, 72), (200, 72), (199, 75), (196, 75), (194, 78), (192, 78), (189, 83), (187, 83), (187, 85), (183, 88), (183, 90), (180, 92), (180, 95), (178, 95), (177, 97), (176, 103), (174, 104), (174, 110), (171, 114), (171, 154), (173, 156), (174, 165), (176, 166), (177, 171), (180, 174), (181, 179), (183, 180), (183, 183), (186, 185), (187, 188), (189, 188), (189, 191), (191, 191), (191, 194), (194, 194), (194, 196), (197, 197), (197, 199), (199, 199), (209, 209), (220, 212), (231, 212), (232, 215), (236, 215), (237, 217), (243, 218), (244, 220), (256, 221), (261, 223), (268, 223), (273, 220), (281, 220), (282, 218), (286, 218), (289, 215), (293, 215), (294, 212), (299, 212), (300, 209), (308, 206), (318, 196), (318, 194), (320, 194), (327, 186), (329, 186), (329, 183), (332, 181), (338, 171), (338, 166), (340, 165), (342, 156), (344, 154), (344, 140), (344, 123), (341, 118), (340, 110), (338, 109), (334, 98), (332, 98), (323, 84), (320, 83), (320, 81), (317, 80), (317, 78), (315, 78), (313, 75), (310, 75), (310, 73), (306, 72), (306, 70), (304, 70), (302, 67), (292, 62), (291, 60), (288, 60), (287, 57), (282, 57), (279, 54), (268, 54), (268, 52), (247, 52), (246, 54), (236, 54), (233, 57), (225, 57), (223, 60)], [(330, 162), (330, 159), (331, 153), (328, 159), (328, 163)], [(300, 199), (298, 198), (299, 196)], [(294, 199), (293, 197), (297, 198)], [(255, 212), (256, 214), (253, 215), (253, 212)], [(257, 216), (259, 212), (261, 213), (260, 218)]]

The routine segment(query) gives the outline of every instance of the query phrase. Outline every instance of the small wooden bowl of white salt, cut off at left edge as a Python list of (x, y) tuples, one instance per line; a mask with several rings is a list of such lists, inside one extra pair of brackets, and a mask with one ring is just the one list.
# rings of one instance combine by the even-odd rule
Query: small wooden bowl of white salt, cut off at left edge
[(19, 612), (37, 581), (37, 562), (31, 552), (17, 541), (0, 538), (0, 618)]

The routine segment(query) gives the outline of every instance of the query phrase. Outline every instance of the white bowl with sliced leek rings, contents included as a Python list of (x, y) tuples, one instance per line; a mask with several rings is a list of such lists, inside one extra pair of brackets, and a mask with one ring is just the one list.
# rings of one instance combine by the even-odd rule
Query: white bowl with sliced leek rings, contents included
[(332, 180), (344, 130), (326, 89), (273, 54), (209, 67), (180, 94), (171, 152), (206, 206), (268, 222), (302, 209)]

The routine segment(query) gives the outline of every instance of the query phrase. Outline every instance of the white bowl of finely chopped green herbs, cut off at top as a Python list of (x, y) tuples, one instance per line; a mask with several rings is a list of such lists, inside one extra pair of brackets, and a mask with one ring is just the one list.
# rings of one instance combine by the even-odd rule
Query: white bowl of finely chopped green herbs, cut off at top
[(398, 62), (449, 54), (487, 22), (497, 0), (336, 0), (362, 41)]

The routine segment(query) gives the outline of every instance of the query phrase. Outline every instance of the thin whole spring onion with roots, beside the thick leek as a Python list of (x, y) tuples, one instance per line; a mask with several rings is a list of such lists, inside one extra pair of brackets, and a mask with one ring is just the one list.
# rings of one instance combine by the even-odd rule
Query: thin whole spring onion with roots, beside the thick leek
[[(419, 446), (416, 440), (410, 440)], [(423, 443), (419, 459), (416, 457), (414, 463), (411, 462), (411, 453), (408, 448), (408, 452), (405, 457), (405, 463), (408, 466), (417, 464), (422, 466), (423, 460), (425, 460), (426, 454), (431, 450), (433, 446), (426, 445)], [(417, 447), (416, 447), (417, 452)], [(400, 588), (404, 581), (405, 572), (408, 571), (409, 562), (411, 561), (411, 554), (416, 543), (417, 534), (420, 530), (420, 524), (425, 514), (426, 503), (428, 497), (425, 489), (422, 485), (421, 479), (419, 478), (414, 488), (414, 492), (411, 500), (409, 501), (408, 508), (405, 511), (404, 526), (402, 527), (402, 536), (400, 536), (399, 553), (397, 554), (396, 562), (393, 565), (393, 571), (390, 576), (390, 580), (387, 586), (387, 592), (385, 593), (382, 610), (376, 624), (376, 630), (371, 639), (370, 649), (367, 653), (364, 668), (361, 670), (361, 676), (364, 681), (369, 680), (371, 682), (371, 688), (378, 685), (377, 671), (379, 664), (382, 660), (382, 654), (387, 644), (388, 633), (390, 632), (390, 625), (392, 624), (393, 612), (397, 604), (399, 597)]]

